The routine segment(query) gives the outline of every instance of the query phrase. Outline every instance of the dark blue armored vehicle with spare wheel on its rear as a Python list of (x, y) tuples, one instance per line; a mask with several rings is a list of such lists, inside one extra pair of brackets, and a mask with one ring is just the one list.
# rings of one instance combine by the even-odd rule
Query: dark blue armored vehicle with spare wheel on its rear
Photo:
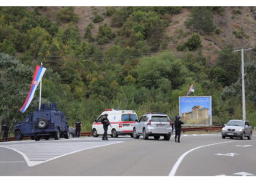
[(32, 140), (39, 141), (40, 138), (69, 138), (69, 126), (64, 112), (58, 111), (56, 103), (44, 103), (33, 114), (16, 124), (14, 127), (15, 140), (21, 141), (23, 137), (28, 136)]

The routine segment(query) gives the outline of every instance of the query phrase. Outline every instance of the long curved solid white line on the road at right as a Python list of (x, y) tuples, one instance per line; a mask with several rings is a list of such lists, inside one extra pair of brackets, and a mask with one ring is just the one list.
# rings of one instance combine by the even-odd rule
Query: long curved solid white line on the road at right
[[(251, 141), (255, 141), (255, 140), (251, 140)], [(223, 144), (223, 143), (233, 143), (233, 142), (238, 142), (238, 141), (225, 141), (225, 142), (219, 142), (219, 143), (212, 143), (212, 144), (208, 144), (206, 146), (215, 146), (215, 145), (219, 145), (219, 144)], [(206, 146), (197, 146), (196, 148), (186, 151), (184, 154), (182, 154), (181, 157), (178, 158), (178, 160), (175, 163), (175, 165), (173, 166), (172, 170), (170, 170), (169, 176), (174, 176), (176, 174), (178, 166), (181, 165), (182, 160), (184, 159), (184, 157), (187, 156), (187, 154), (189, 154), (190, 152), (195, 151), (197, 149), (206, 147)]]

